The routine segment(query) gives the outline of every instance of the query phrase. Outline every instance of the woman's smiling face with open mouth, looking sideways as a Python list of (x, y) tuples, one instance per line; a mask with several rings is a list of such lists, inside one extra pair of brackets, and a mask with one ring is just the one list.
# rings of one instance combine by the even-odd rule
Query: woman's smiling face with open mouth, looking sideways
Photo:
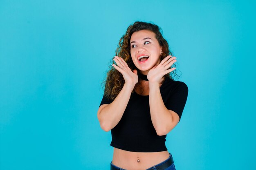
[[(130, 39), (130, 53), (132, 61), (135, 66), (143, 73), (147, 75), (148, 71), (160, 63), (160, 55), (162, 47), (159, 45), (155, 38), (155, 33), (149, 30), (140, 30), (132, 34)], [(149, 56), (147, 60), (141, 62), (138, 60), (139, 56)]]

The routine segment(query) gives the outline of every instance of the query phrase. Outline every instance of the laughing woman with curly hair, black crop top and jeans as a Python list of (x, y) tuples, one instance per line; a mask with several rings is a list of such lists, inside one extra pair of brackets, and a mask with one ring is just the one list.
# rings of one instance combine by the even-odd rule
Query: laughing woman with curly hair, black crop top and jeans
[(175, 170), (165, 138), (180, 121), (188, 87), (173, 80), (177, 58), (160, 31), (147, 22), (130, 25), (107, 73), (97, 117), (111, 130), (111, 170)]

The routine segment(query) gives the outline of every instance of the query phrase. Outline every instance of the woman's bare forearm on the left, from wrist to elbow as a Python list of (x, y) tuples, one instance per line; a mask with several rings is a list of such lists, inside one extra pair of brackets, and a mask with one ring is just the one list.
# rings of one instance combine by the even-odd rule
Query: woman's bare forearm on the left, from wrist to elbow
[(100, 126), (103, 130), (109, 131), (118, 124), (124, 114), (133, 88), (132, 85), (124, 84), (114, 101), (104, 107), (98, 114)]

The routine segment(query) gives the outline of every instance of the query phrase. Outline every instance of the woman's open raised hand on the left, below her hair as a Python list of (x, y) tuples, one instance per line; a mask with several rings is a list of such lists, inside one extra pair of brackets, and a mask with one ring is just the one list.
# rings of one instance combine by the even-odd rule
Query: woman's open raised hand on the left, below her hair
[(115, 56), (113, 59), (118, 66), (112, 64), (115, 69), (117, 69), (124, 77), (125, 83), (135, 86), (139, 81), (137, 70), (131, 71), (127, 63), (121, 57)]

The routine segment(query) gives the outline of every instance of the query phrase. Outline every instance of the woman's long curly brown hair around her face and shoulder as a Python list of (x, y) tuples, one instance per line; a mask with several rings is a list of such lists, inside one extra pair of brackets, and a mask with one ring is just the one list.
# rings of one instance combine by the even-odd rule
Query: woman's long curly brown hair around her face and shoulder
[[(169, 45), (167, 41), (163, 38), (162, 29), (159, 26), (150, 22), (134, 22), (134, 24), (128, 26), (126, 33), (119, 40), (119, 44), (117, 45), (115, 54), (118, 57), (122, 57), (131, 70), (136, 69), (138, 73), (139, 69), (133, 63), (132, 57), (130, 55), (130, 38), (132, 36), (132, 33), (140, 30), (149, 30), (155, 33), (155, 38), (157, 39), (159, 45), (162, 46), (163, 54), (160, 56), (161, 61), (164, 60), (164, 58), (168, 55), (173, 55), (173, 53), (169, 50)], [(105, 85), (104, 95), (109, 99), (113, 100), (120, 93), (121, 89), (124, 86), (125, 80), (123, 75), (111, 64), (114, 64), (114, 60), (110, 61), (110, 63), (108, 64), (109, 70), (102, 84)], [(170, 68), (173, 67), (177, 68), (175, 63)], [(171, 73), (164, 75), (163, 77), (169, 77), (170, 79), (174, 80), (175, 76), (177, 76), (177, 78), (180, 77), (176, 74), (176, 69)], [(135, 85), (135, 88), (132, 90), (132, 93), (134, 93), (137, 88), (142, 88), (140, 79)]]

